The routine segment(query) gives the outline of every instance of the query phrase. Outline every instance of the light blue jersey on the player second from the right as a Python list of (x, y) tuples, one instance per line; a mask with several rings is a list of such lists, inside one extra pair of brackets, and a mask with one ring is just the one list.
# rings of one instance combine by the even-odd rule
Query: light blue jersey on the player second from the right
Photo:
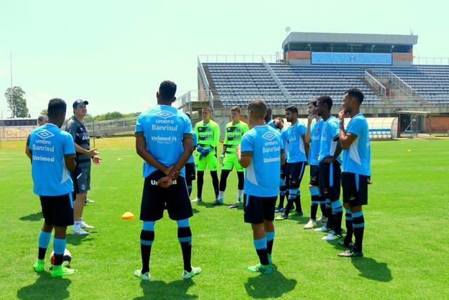
[[(321, 143), (318, 161), (321, 162), (326, 157), (333, 157), (335, 148), (337, 148), (338, 141), (334, 141), (333, 138), (340, 133), (340, 123), (338, 119), (331, 116), (326, 122), (323, 123), (321, 129)], [(342, 155), (338, 155), (337, 161), (342, 163)]]

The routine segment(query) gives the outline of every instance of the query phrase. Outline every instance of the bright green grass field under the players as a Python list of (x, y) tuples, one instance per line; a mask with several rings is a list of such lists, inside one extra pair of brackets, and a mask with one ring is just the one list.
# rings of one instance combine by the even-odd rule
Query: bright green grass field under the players
[[(210, 206), (213, 192), (206, 174), (204, 203), (192, 205), (190, 221), (192, 263), (203, 272), (182, 280), (176, 223), (166, 217), (156, 222), (150, 282), (133, 275), (140, 268), (143, 182), (142, 160), (133, 145), (133, 138), (95, 141), (103, 160), (93, 166), (88, 196), (96, 202), (85, 207), (83, 219), (96, 227), (86, 237), (68, 235), (78, 273), (52, 279), (49, 261), (43, 275), (32, 270), (43, 219), (32, 193), (25, 142), (1, 142), (0, 299), (449, 298), (449, 139), (372, 142), (363, 258), (339, 258), (342, 248), (302, 229), (310, 204), (309, 176), (304, 176), (304, 217), (275, 223), (272, 275), (246, 270), (257, 263), (250, 226), (243, 223), (241, 209)], [(232, 204), (234, 173), (227, 186), (225, 202)], [(122, 220), (125, 211), (136, 219)]]

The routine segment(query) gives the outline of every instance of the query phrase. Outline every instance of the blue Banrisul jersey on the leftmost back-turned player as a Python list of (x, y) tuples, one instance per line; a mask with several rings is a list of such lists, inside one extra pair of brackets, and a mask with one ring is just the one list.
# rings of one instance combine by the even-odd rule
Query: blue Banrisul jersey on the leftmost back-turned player
[(39, 196), (60, 196), (73, 192), (73, 182), (65, 167), (65, 155), (75, 154), (70, 133), (55, 124), (37, 127), (29, 136), (32, 151), (33, 191)]

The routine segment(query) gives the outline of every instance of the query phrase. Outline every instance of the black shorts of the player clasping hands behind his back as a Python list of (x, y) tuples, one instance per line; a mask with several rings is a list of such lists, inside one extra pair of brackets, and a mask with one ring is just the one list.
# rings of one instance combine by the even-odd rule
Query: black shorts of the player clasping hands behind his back
[(178, 177), (169, 188), (161, 188), (157, 185), (157, 181), (163, 176), (165, 174), (158, 170), (145, 178), (140, 204), (140, 220), (162, 219), (165, 208), (172, 220), (177, 221), (193, 216), (185, 178)]

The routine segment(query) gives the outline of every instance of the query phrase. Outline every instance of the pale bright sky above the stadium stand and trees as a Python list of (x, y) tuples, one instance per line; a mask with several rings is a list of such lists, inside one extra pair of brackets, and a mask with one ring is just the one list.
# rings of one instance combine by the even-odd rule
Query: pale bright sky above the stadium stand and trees
[[(2, 1), (0, 91), (25, 91), (32, 117), (50, 98), (88, 112), (140, 112), (165, 79), (197, 89), (200, 54), (271, 54), (292, 32), (418, 35), (415, 56), (449, 57), (445, 1)], [(10, 112), (0, 97), (3, 117)], [(71, 112), (68, 112), (71, 115)]]

